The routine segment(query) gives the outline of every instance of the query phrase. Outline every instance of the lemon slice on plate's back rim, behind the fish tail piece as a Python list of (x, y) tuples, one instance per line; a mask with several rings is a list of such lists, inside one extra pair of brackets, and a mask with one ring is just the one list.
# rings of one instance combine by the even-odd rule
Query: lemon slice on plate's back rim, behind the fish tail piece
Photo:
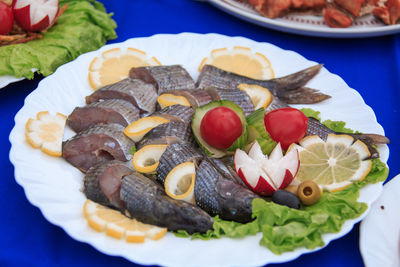
[(211, 55), (201, 61), (199, 71), (206, 64), (253, 79), (267, 80), (275, 77), (266, 56), (253, 53), (250, 48), (242, 46), (212, 50)]

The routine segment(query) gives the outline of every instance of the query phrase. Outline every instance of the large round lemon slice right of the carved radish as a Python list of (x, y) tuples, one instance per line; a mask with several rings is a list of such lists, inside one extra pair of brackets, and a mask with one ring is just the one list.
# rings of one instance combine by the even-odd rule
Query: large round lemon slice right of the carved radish
[(331, 192), (363, 180), (372, 167), (368, 147), (349, 135), (330, 134), (326, 142), (317, 135), (307, 136), (289, 150), (293, 148), (299, 150), (300, 159), (296, 180), (313, 180)]

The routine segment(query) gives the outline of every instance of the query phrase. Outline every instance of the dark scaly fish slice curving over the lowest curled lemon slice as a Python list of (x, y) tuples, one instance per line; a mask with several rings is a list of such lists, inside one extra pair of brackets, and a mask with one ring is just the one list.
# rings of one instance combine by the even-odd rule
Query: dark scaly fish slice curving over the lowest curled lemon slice
[(202, 154), (200, 154), (200, 152), (190, 144), (175, 143), (169, 145), (159, 160), (157, 167), (157, 181), (164, 184), (168, 173), (177, 165), (189, 161), (194, 162), (197, 165), (202, 158)]

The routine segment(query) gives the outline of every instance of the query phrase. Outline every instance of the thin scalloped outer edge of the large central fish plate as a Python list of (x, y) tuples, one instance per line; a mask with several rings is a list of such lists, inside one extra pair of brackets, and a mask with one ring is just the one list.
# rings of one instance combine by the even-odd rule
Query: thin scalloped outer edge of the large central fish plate
[[(273, 47), (275, 47), (275, 48), (278, 48), (278, 49), (282, 50), (282, 51), (285, 52), (285, 53), (286, 53), (286, 52), (295, 53), (296, 56), (301, 57), (301, 58), (303, 58), (303, 59), (305, 59), (305, 60), (307, 60), (307, 61), (309, 61), (309, 62), (313, 62), (313, 61), (311, 61), (311, 60), (308, 60), (308, 59), (304, 58), (304, 56), (302, 56), (301, 54), (299, 54), (299, 53), (297, 53), (297, 52), (290, 51), (290, 50), (285, 50), (285, 49), (282, 49), (282, 48), (280, 48), (280, 47), (278, 47), (278, 46), (275, 46), (275, 45), (270, 44), (270, 43), (267, 43), (267, 42), (257, 42), (257, 41), (254, 41), (254, 40), (252, 40), (252, 39), (246, 38), (246, 37), (241, 37), (241, 36), (231, 37), (231, 36), (226, 36), (226, 35), (221, 35), (221, 34), (215, 34), (215, 33), (210, 33), (210, 34), (197, 34), (197, 33), (187, 33), (187, 32), (185, 32), (185, 33), (180, 33), (180, 34), (155, 34), (155, 35), (152, 35), (152, 36), (149, 36), (149, 37), (130, 38), (130, 39), (124, 41), (124, 42), (108, 44), (108, 45), (105, 45), (105, 46), (99, 48), (98, 50), (91, 51), (91, 52), (85, 53), (85, 54), (83, 54), (83, 55), (80, 55), (80, 56), (79, 56), (77, 59), (75, 59), (74, 61), (71, 61), (71, 62), (69, 62), (69, 63), (66, 63), (66, 64), (62, 65), (60, 68), (58, 68), (58, 69), (56, 70), (56, 72), (55, 72), (54, 74), (50, 75), (49, 77), (51, 77), (51, 76), (53, 76), (53, 75), (56, 75), (56, 73), (58, 73), (58, 72), (63, 71), (63, 69), (64, 69), (64, 68), (67, 68), (67, 67), (69, 66), (69, 64), (76, 64), (76, 63), (75, 63), (76, 61), (78, 61), (78, 62), (80, 61), (79, 58), (85, 57), (85, 56), (87, 56), (87, 55), (89, 55), (89, 54), (96, 55), (96, 53), (99, 53), (99, 51), (102, 51), (102, 50), (106, 49), (107, 47), (119, 46), (119, 45), (121, 45), (121, 44), (128, 43), (128, 42), (130, 42), (131, 40), (135, 40), (135, 39), (164, 38), (164, 37), (165, 37), (165, 38), (167, 38), (167, 37), (173, 37), (173, 38), (174, 38), (174, 37), (176, 37), (176, 36), (183, 36), (183, 38), (184, 38), (184, 37), (187, 37), (187, 38), (193, 38), (193, 37), (195, 37), (195, 38), (197, 38), (197, 37), (199, 37), (199, 38), (218, 37), (218, 38), (227, 38), (227, 39), (230, 39), (230, 40), (233, 40), (233, 39), (235, 39), (235, 38), (242, 38), (242, 39), (245, 39), (245, 40), (248, 41), (248, 42), (255, 42), (255, 43), (259, 43), (259, 44), (271, 45), (271, 46), (273, 46)], [(331, 73), (331, 72), (329, 72), (329, 71), (328, 71), (328, 73), (329, 73), (330, 75), (332, 75), (332, 76), (335, 76), (337, 79), (340, 79), (340, 81), (343, 82), (343, 83), (348, 87), (349, 90), (354, 91), (354, 92), (358, 95), (357, 97), (359, 97), (359, 98), (363, 101), (363, 104), (366, 106), (366, 108), (368, 108), (368, 109), (370, 109), (370, 110), (372, 111), (372, 114), (373, 114), (373, 117), (374, 117), (374, 118), (373, 118), (373, 119), (374, 119), (374, 122), (379, 126), (379, 128), (382, 130), (382, 132), (384, 132), (382, 126), (376, 121), (376, 116), (375, 116), (373, 110), (364, 102), (364, 100), (363, 100), (363, 98), (361, 97), (361, 95), (360, 95), (356, 90), (354, 90), (354, 89), (352, 89), (351, 87), (349, 87), (349, 86), (343, 81), (343, 79), (342, 79), (341, 77), (339, 77), (338, 75), (333, 74), (333, 73)], [(42, 81), (40, 81), (38, 87), (37, 87), (35, 90), (33, 90), (33, 91), (26, 97), (25, 102), (24, 102), (24, 106), (17, 112), (17, 114), (16, 114), (16, 116), (15, 116), (15, 118), (14, 118), (15, 123), (16, 123), (16, 121), (17, 121), (17, 118), (18, 118), (19, 115), (21, 114), (22, 110), (24, 109), (25, 105), (27, 104), (27, 100), (29, 99), (29, 96), (32, 95), (32, 94), (36, 94), (37, 89), (41, 87), (41, 84), (42, 84), (43, 81), (46, 80), (46, 79), (47, 79), (47, 78), (44, 78)], [(57, 226), (61, 227), (71, 238), (73, 238), (73, 239), (75, 239), (75, 240), (77, 240), (77, 241), (80, 241), (80, 242), (89, 244), (89, 245), (91, 245), (92, 247), (96, 248), (98, 251), (102, 252), (103, 254), (106, 254), (106, 255), (113, 255), (113, 256), (121, 256), (121, 257), (126, 258), (126, 259), (129, 260), (129, 261), (134, 261), (134, 262), (139, 263), (139, 264), (146, 264), (146, 265), (147, 265), (147, 264), (162, 264), (162, 265), (168, 265), (168, 264), (161, 263), (161, 262), (155, 262), (154, 260), (153, 260), (153, 261), (142, 261), (142, 260), (138, 260), (138, 259), (132, 259), (132, 258), (126, 257), (125, 255), (121, 255), (121, 254), (119, 254), (119, 253), (113, 253), (113, 252), (110, 252), (110, 251), (106, 251), (106, 250), (104, 250), (101, 246), (99, 246), (98, 244), (93, 244), (92, 242), (90, 242), (90, 241), (88, 241), (88, 240), (85, 240), (85, 239), (83, 239), (83, 238), (80, 238), (79, 235), (76, 235), (75, 233), (71, 233), (71, 231), (69, 231), (68, 229), (64, 228), (64, 227), (63, 227), (62, 225), (60, 225), (59, 223), (55, 222), (55, 221), (53, 220), (52, 216), (50, 216), (50, 214), (47, 214), (47, 212), (38, 204), (38, 202), (37, 202), (34, 198), (32, 198), (31, 194), (29, 193), (29, 189), (28, 189), (28, 188), (25, 188), (24, 182), (22, 181), (22, 178), (21, 178), (20, 175), (19, 175), (19, 168), (17, 168), (17, 166), (15, 165), (15, 158), (14, 158), (15, 145), (14, 145), (14, 141), (13, 141), (13, 136), (14, 136), (15, 134), (16, 134), (16, 125), (14, 125), (14, 127), (13, 127), (13, 129), (12, 129), (12, 131), (11, 131), (11, 133), (10, 133), (10, 136), (9, 136), (9, 140), (10, 140), (10, 143), (11, 143), (10, 161), (11, 161), (12, 164), (14, 165), (14, 178), (15, 178), (16, 182), (17, 182), (19, 185), (21, 185), (21, 186), (23, 187), (24, 192), (25, 192), (25, 195), (26, 195), (28, 201), (29, 201), (31, 204), (33, 204), (34, 206), (38, 207), (39, 210), (41, 211), (41, 213), (43, 214), (43, 216), (44, 216), (49, 222), (51, 222), (51, 223), (54, 224), (54, 225), (57, 225)], [(387, 154), (389, 154), (389, 148), (388, 148), (387, 146), (386, 146), (386, 149), (387, 149), (387, 152), (388, 152)], [(386, 162), (387, 162), (387, 158), (386, 158), (386, 159), (382, 159), (382, 161), (386, 163)], [(374, 199), (371, 199), (371, 203), (373, 203), (373, 202), (379, 197), (379, 195), (381, 194), (381, 192), (382, 192), (382, 184), (383, 184), (383, 182), (374, 184), (374, 186), (380, 185), (380, 188), (379, 188), (379, 189), (380, 189), (380, 192), (379, 192), (379, 194), (378, 194)], [(372, 186), (372, 185), (371, 185), (371, 186)], [(280, 257), (281, 260), (270, 261), (270, 262), (260, 262), (259, 264), (287, 262), (287, 261), (294, 260), (294, 259), (298, 258), (299, 256), (301, 256), (301, 255), (303, 255), (303, 254), (308, 254), (308, 253), (316, 252), (316, 251), (318, 251), (318, 250), (323, 249), (323, 248), (326, 247), (331, 241), (333, 241), (333, 240), (335, 240), (335, 239), (338, 239), (338, 238), (341, 238), (342, 236), (344, 236), (344, 235), (346, 235), (348, 232), (350, 232), (350, 231), (352, 230), (352, 228), (354, 227), (354, 225), (355, 225), (357, 222), (361, 221), (361, 220), (368, 214), (368, 212), (369, 212), (369, 210), (370, 210), (370, 206), (371, 206), (371, 205), (368, 205), (368, 209), (367, 209), (360, 217), (355, 218), (355, 219), (351, 219), (351, 220), (347, 220), (346, 223), (348, 223), (348, 224), (345, 223), (345, 224), (342, 226), (342, 229), (341, 229), (341, 231), (340, 231), (339, 233), (332, 233), (332, 235), (333, 235), (334, 237), (330, 238), (329, 240), (324, 240), (324, 242), (325, 242), (325, 245), (324, 245), (324, 246), (322, 246), (322, 247), (317, 247), (317, 248), (315, 248), (315, 249), (313, 249), (313, 250), (305, 250), (305, 251), (304, 251), (304, 249), (303, 249), (303, 251), (300, 252), (300, 253), (298, 253), (298, 251), (295, 250), (295, 251), (292, 251), (292, 252), (289, 252), (289, 253), (288, 253), (288, 254), (291, 254), (291, 256), (290, 256), (289, 258), (281, 258), (281, 257)], [(323, 236), (324, 236), (324, 235), (323, 235)], [(267, 249), (267, 248), (266, 248), (266, 249)], [(171, 265), (171, 263), (169, 263), (169, 265)]]

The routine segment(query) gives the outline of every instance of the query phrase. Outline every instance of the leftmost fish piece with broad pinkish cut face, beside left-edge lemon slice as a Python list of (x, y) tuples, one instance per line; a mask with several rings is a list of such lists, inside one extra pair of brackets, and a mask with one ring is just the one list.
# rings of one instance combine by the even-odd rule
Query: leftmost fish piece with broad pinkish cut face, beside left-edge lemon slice
[(96, 124), (79, 132), (62, 144), (62, 156), (82, 172), (109, 160), (128, 161), (134, 143), (123, 134), (124, 127), (115, 124)]

